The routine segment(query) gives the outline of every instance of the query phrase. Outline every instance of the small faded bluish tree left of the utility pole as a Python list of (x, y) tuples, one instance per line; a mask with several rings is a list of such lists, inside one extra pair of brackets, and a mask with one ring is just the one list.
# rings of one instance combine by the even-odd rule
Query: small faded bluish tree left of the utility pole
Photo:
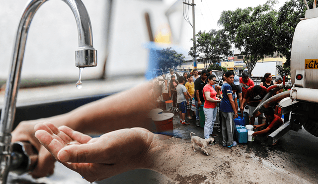
[(183, 54), (178, 54), (175, 50), (170, 48), (156, 50), (155, 57), (158, 63), (158, 67), (161, 71), (168, 71), (169, 68), (175, 68), (180, 66), (182, 62), (185, 62)]

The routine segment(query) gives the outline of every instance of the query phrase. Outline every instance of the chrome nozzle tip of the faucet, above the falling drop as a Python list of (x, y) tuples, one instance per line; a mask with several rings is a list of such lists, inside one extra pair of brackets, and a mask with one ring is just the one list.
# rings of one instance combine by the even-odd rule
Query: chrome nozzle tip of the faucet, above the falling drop
[(75, 65), (79, 68), (97, 66), (97, 51), (93, 47), (75, 51)]

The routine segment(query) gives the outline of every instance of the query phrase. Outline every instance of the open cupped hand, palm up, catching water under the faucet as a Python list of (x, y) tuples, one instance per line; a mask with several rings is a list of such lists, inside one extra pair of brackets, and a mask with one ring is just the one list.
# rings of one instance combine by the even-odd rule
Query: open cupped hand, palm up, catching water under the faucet
[(35, 136), (59, 162), (89, 182), (147, 168), (154, 139), (154, 134), (144, 128), (120, 129), (97, 138), (51, 123), (35, 129)]

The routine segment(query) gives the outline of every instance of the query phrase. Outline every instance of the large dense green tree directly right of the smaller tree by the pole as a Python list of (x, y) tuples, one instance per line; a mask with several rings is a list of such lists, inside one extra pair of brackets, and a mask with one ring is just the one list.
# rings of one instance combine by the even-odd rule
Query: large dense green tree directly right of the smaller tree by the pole
[(219, 25), (230, 35), (230, 41), (240, 51), (243, 61), (251, 74), (257, 61), (273, 56), (277, 32), (276, 1), (268, 0), (256, 7), (223, 11)]

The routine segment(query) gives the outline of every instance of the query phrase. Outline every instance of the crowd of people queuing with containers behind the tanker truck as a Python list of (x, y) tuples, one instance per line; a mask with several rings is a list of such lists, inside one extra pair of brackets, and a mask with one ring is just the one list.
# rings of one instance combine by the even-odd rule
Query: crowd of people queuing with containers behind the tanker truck
[[(174, 81), (174, 77), (176, 77), (174, 75), (173, 69), (170, 68), (170, 73), (165, 76), (166, 81), (169, 81), (170, 78), (170, 81)], [(169, 94), (172, 94), (172, 91), (176, 88), (178, 99), (176, 105), (180, 109), (180, 123), (188, 125), (188, 120), (195, 116), (196, 125), (200, 126), (199, 109), (203, 106), (205, 117), (204, 138), (218, 137), (218, 134), (213, 133), (213, 127), (217, 113), (219, 113), (224, 147), (231, 148), (237, 145), (233, 137), (235, 131), (234, 119), (238, 118), (239, 114), (243, 117), (244, 109), (248, 109), (245, 111), (248, 111), (249, 124), (255, 128), (253, 136), (267, 133), (283, 124), (281, 118), (274, 114), (272, 108), (269, 108), (270, 110), (266, 111), (265, 115), (258, 116), (258, 124), (255, 124), (255, 117), (253, 116), (256, 107), (267, 94), (267, 88), (282, 83), (283, 79), (280, 76), (272, 80), (271, 73), (265, 73), (260, 84), (255, 85), (246, 71), (240, 77), (235, 75), (233, 71), (227, 71), (223, 73), (222, 80), (216, 84), (216, 76), (212, 74), (210, 69), (203, 69), (200, 75), (198, 75), (197, 69), (193, 69), (190, 74), (184, 72), (183, 76), (180, 76), (177, 81), (178, 84), (169, 83), (169, 86), (172, 86), (169, 87)], [(185, 87), (181, 87), (183, 85)], [(275, 94), (282, 91), (283, 89)], [(190, 110), (192, 100), (194, 100), (196, 107), (194, 112)], [(186, 114), (187, 119), (185, 118)], [(265, 121), (263, 121), (264, 117)]]

